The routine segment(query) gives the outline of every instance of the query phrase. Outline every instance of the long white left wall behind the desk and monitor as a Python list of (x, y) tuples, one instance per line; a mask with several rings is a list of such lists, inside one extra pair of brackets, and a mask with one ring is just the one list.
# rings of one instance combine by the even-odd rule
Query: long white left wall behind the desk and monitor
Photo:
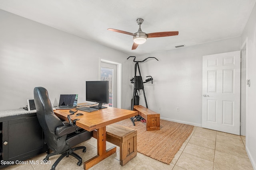
[[(128, 54), (58, 29), (3, 10), (0, 23), (0, 110), (26, 105), (35, 86), (45, 87), (55, 105), (60, 94), (78, 94), (78, 103), (85, 102), (85, 81), (98, 80), (100, 58), (132, 69)], [(132, 74), (122, 76), (130, 80)], [(132, 93), (128, 84), (122, 89)], [(122, 107), (130, 108), (130, 98), (122, 99)]]

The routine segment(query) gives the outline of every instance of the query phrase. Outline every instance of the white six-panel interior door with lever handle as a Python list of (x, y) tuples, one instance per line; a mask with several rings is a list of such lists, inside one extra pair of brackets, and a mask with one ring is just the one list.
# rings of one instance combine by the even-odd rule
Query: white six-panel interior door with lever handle
[(203, 56), (202, 127), (240, 135), (240, 51)]

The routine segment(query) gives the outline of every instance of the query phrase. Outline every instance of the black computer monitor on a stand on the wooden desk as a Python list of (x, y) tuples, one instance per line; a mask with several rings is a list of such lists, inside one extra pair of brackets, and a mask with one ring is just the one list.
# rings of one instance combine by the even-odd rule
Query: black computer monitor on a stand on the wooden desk
[(108, 81), (86, 81), (86, 101), (98, 102), (98, 106), (90, 106), (96, 109), (106, 108), (102, 104), (108, 104)]

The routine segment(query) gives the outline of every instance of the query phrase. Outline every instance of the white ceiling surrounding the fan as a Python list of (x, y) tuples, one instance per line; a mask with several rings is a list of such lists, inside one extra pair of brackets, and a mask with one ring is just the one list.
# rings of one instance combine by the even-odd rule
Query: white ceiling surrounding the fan
[[(239, 37), (256, 0), (0, 0), (0, 9), (130, 55), (143, 55)], [(147, 39), (132, 50), (137, 18), (146, 33), (179, 31)], [(184, 47), (182, 47), (184, 48)]]

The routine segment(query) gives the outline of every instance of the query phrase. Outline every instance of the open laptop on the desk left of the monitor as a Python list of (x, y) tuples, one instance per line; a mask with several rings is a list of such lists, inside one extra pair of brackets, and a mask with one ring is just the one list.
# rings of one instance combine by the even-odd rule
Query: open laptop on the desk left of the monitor
[(61, 94), (58, 107), (55, 109), (73, 109), (77, 106), (78, 94)]

